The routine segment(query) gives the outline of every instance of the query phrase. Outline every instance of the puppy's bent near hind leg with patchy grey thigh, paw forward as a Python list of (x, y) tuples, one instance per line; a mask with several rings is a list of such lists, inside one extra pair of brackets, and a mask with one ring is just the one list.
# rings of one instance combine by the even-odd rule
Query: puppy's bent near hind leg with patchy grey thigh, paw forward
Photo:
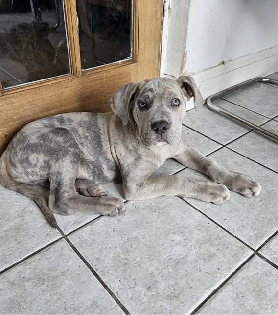
[[(125, 211), (125, 205), (120, 199), (91, 198), (77, 193), (75, 180), (80, 162), (78, 143), (67, 129), (56, 128), (52, 131), (52, 136), (49, 208), (62, 215), (80, 212), (110, 216), (122, 214)], [(63, 146), (64, 143), (67, 143), (67, 146), (66, 148), (64, 146), (66, 152), (62, 155), (57, 148)]]

